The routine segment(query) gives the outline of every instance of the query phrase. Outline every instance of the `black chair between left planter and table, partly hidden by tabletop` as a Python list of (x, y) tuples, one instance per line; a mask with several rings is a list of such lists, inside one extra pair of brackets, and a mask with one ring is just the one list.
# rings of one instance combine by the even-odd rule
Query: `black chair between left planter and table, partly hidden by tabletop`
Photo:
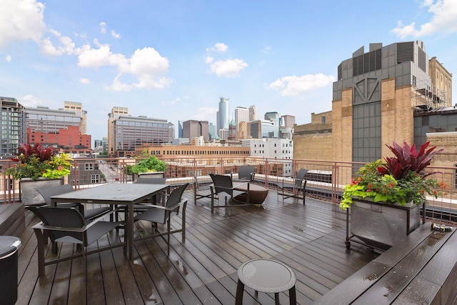
[[(36, 191), (39, 192), (41, 196), (43, 196), (44, 201), (46, 201), (46, 206), (51, 206), (51, 196), (56, 196), (56, 195), (61, 195), (61, 194), (66, 194), (71, 191), (74, 191), (73, 186), (71, 184), (61, 184), (58, 186), (49, 186), (49, 187), (44, 187), (41, 189), (37, 189)], [(94, 209), (84, 209), (84, 206), (82, 204), (74, 204), (74, 203), (62, 203), (62, 204), (57, 204), (57, 206), (60, 207), (78, 207), (79, 212), (84, 216), (84, 219), (90, 220), (90, 219), (96, 219), (97, 217), (109, 213), (111, 211), (111, 207), (109, 206), (102, 206), (99, 208), (94, 208)], [(111, 216), (112, 217), (112, 216)], [(112, 221), (113, 219), (111, 219)]]

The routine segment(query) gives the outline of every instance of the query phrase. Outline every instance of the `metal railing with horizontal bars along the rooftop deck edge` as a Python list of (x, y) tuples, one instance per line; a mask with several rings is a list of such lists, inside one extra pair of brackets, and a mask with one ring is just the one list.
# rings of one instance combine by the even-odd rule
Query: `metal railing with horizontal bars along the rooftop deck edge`
[[(191, 171), (209, 179), (209, 174), (232, 174), (238, 172), (238, 167), (251, 165), (256, 169), (256, 183), (264, 184), (270, 189), (275, 188), (275, 182), (281, 179), (292, 179), (296, 172), (308, 169), (306, 174), (306, 196), (331, 201), (339, 204), (343, 187), (351, 183), (354, 173), (363, 163), (345, 161), (320, 161), (305, 159), (268, 159), (255, 157), (184, 157), (162, 159), (167, 163), (164, 176), (167, 183), (180, 184), (192, 182)], [(139, 159), (74, 159), (71, 174), (65, 182), (72, 184), (75, 189), (97, 186), (106, 183), (132, 183), (129, 166)], [(9, 204), (21, 201), (19, 181), (4, 174), (4, 169), (14, 163), (0, 160), (0, 201)], [(435, 172), (435, 178), (443, 181), (447, 188), (442, 197), (428, 198), (426, 215), (433, 219), (457, 223), (457, 167), (428, 166), (427, 171)]]

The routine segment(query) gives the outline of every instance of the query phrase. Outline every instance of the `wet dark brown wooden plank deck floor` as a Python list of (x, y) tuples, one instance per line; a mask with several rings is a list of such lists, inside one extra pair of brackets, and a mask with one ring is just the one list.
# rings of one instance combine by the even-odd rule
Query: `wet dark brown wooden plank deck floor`
[[(323, 201), (306, 199), (303, 206), (287, 199), (283, 206), (270, 190), (263, 208), (236, 208), (233, 216), (226, 216), (224, 211), (211, 214), (209, 199), (194, 205), (191, 190), (184, 196), (189, 199), (186, 241), (181, 234), (172, 236), (169, 257), (162, 239), (137, 241), (133, 262), (126, 260), (122, 248), (103, 251), (86, 257), (86, 273), (80, 258), (46, 266), (46, 276), (39, 278), (31, 229), (38, 220), (28, 215), (19, 249), (16, 304), (234, 304), (236, 270), (256, 258), (291, 266), (298, 304), (310, 304), (377, 256), (356, 244), (346, 250), (346, 214)], [(136, 224), (141, 231), (149, 227)], [(99, 245), (118, 239), (113, 232)], [(71, 251), (73, 246), (61, 248), (64, 254)], [(286, 294), (280, 294), (280, 300), (288, 304)], [(274, 304), (272, 295), (259, 293), (255, 299), (249, 289), (243, 301)]]

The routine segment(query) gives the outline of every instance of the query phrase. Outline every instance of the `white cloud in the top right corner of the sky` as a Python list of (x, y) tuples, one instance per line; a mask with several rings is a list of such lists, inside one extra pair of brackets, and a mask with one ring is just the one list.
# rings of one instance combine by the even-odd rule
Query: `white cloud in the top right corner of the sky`
[(428, 12), (432, 14), (431, 20), (425, 24), (421, 24), (419, 29), (416, 29), (416, 22), (408, 25), (403, 25), (398, 21), (397, 27), (392, 30), (398, 37), (404, 39), (407, 36), (420, 37), (435, 34), (438, 31), (444, 33), (453, 33), (457, 31), (457, 1), (455, 0), (425, 0), (423, 7), (428, 8)]

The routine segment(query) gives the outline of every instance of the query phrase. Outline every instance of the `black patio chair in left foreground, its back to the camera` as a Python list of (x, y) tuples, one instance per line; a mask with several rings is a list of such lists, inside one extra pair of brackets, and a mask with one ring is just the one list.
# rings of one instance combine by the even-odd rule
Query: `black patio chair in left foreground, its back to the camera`
[[(49, 264), (56, 264), (61, 261), (75, 259), (77, 257), (86, 256), (99, 251), (113, 249), (116, 246), (121, 246), (122, 243), (97, 248), (91, 251), (86, 251), (86, 247), (92, 244), (101, 236), (115, 229), (120, 222), (101, 221), (104, 216), (101, 216), (92, 221), (86, 221), (79, 210), (75, 207), (61, 206), (31, 206), (30, 211), (34, 212), (39, 217), (41, 222), (33, 226), (36, 239), (38, 241), (38, 273), (39, 276), (45, 274), (44, 267)], [(112, 212), (112, 211), (111, 211)], [(51, 239), (52, 254), (57, 254), (57, 242), (71, 243), (81, 245), (81, 252), (75, 251), (71, 256), (59, 257), (57, 259), (45, 259), (44, 245), (47, 244), (47, 239)], [(84, 257), (84, 270), (86, 271), (86, 259)]]

